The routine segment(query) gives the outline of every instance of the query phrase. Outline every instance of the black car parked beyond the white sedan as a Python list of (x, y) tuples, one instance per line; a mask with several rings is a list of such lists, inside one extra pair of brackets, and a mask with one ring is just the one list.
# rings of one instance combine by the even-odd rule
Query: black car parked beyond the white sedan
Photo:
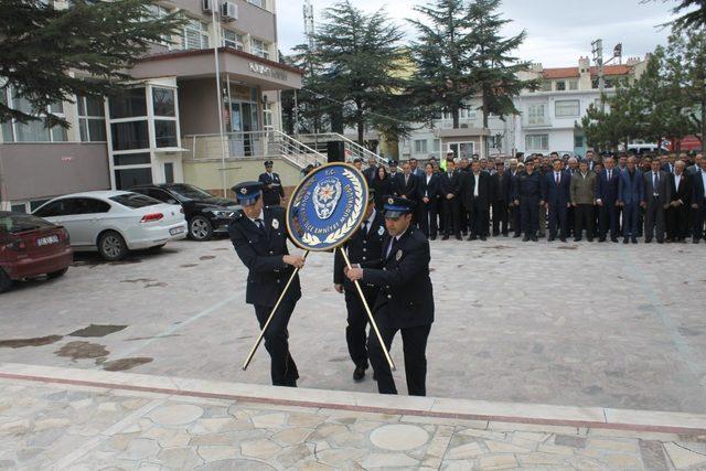
[(185, 183), (141, 185), (130, 191), (163, 203), (181, 204), (189, 223), (189, 237), (194, 240), (210, 240), (214, 234), (227, 233), (234, 213), (240, 208), (234, 200), (213, 196), (205, 190)]

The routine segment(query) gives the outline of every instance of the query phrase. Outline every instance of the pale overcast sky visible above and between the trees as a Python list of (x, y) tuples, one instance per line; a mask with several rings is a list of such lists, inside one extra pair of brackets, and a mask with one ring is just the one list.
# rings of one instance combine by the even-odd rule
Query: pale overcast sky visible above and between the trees
[[(426, 0), (421, 0), (425, 2)], [(332, 0), (311, 0), (314, 20), (334, 3)], [(416, 12), (415, 0), (353, 0), (353, 4), (367, 12), (382, 6), (388, 15), (414, 34), (405, 21)], [(670, 19), (673, 1), (657, 0), (641, 3), (640, 0), (504, 0), (502, 13), (513, 20), (507, 34), (523, 29), (527, 39), (518, 50), (518, 57), (541, 62), (545, 67), (576, 66), (580, 55), (591, 55), (591, 41), (603, 40), (605, 54), (622, 42), (623, 58), (644, 56), (657, 44), (665, 44), (668, 31), (656, 28)], [(303, 0), (279, 0), (277, 6), (279, 47), (285, 53), (304, 42)]]

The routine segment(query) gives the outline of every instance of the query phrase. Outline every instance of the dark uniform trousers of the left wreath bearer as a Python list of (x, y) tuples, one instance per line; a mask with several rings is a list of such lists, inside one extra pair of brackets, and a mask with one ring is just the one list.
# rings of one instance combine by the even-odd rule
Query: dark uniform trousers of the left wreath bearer
[[(282, 301), (265, 331), (265, 349), (272, 360), (270, 375), (274, 386), (296, 386), (299, 378), (299, 371), (289, 353), (289, 332), (287, 331), (287, 324), (296, 304), (292, 301)], [(265, 327), (271, 311), (272, 307), (255, 306), (260, 329)]]

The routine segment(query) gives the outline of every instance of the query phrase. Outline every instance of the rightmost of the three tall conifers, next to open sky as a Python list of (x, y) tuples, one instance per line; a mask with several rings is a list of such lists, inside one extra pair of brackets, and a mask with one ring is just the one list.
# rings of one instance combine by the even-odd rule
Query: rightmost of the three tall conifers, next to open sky
[[(523, 88), (535, 89), (538, 83), (522, 81), (517, 74), (528, 71), (530, 63), (520, 62), (512, 54), (526, 38), (526, 32), (503, 38), (501, 29), (511, 20), (503, 20), (496, 10), (501, 0), (475, 0), (469, 6), (468, 21), (471, 33), (468, 38), (472, 51), (470, 72), (473, 86), (481, 94), (483, 128), (488, 128), (491, 114), (503, 119), (507, 115), (518, 115), (513, 97)], [(488, 150), (488, 137), (484, 136)]]

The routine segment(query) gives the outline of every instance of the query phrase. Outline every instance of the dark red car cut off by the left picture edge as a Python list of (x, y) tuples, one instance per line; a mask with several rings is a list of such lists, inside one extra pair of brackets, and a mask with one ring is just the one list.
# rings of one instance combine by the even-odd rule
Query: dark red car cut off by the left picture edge
[(0, 211), (0, 292), (12, 281), (61, 277), (74, 260), (68, 233), (41, 217)]

